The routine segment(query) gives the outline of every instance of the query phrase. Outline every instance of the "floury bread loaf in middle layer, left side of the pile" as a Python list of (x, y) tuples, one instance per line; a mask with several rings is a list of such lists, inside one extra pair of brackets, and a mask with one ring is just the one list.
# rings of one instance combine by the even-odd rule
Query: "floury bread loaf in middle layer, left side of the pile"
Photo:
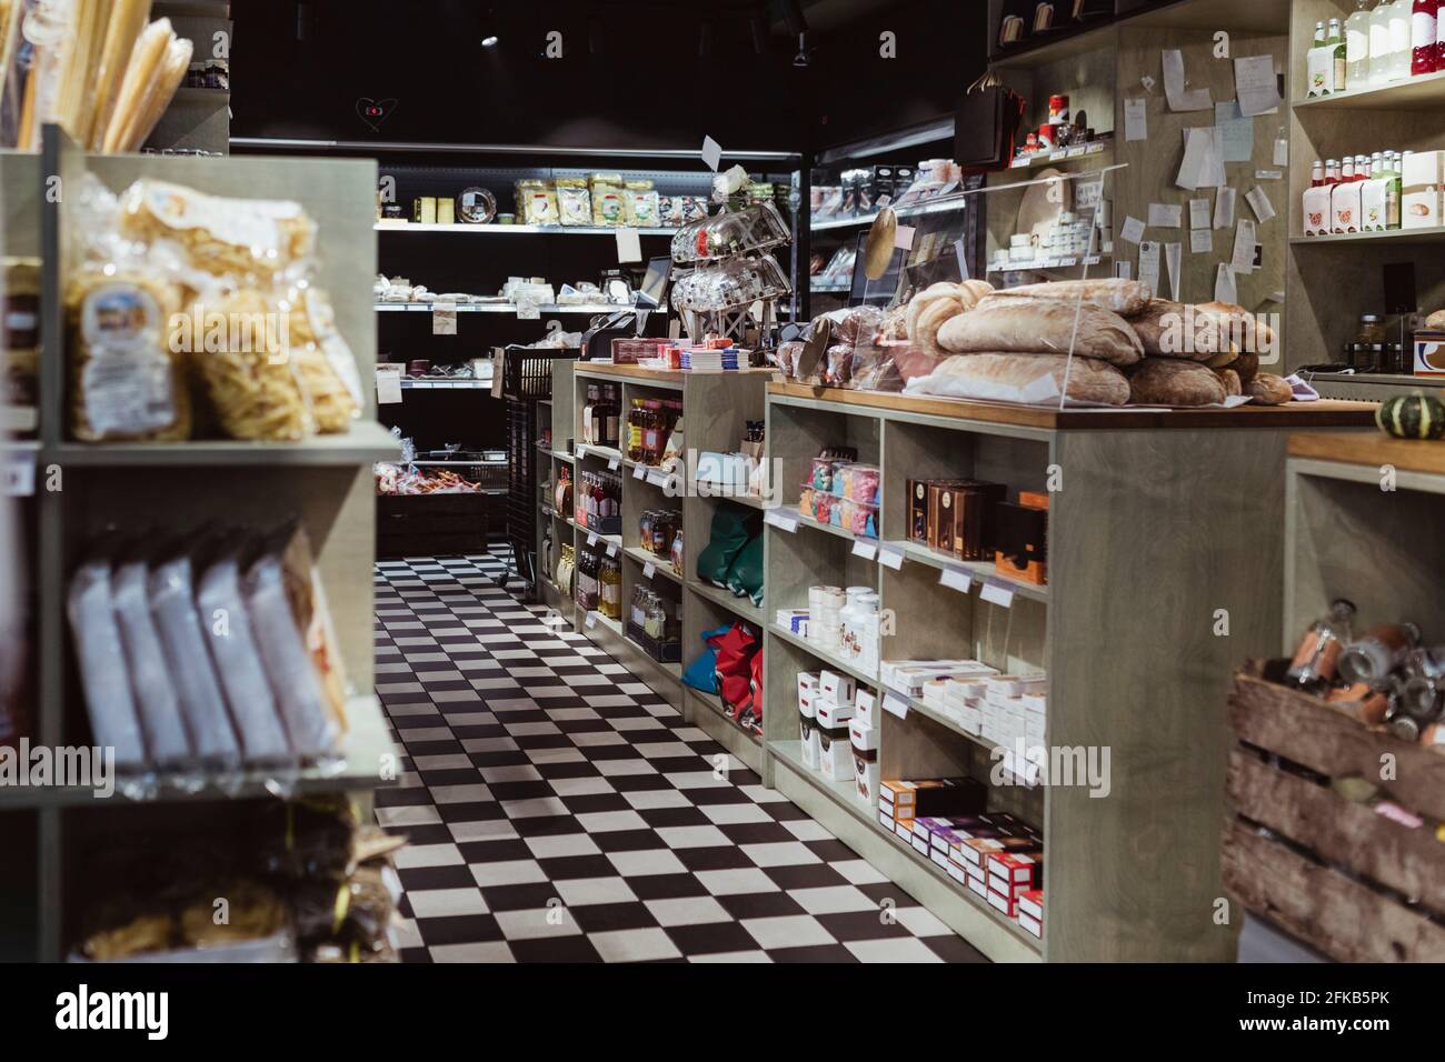
[(968, 314), (938, 331), (938, 345), (951, 354), (1017, 351), (1068, 354), (1131, 366), (1143, 344), (1124, 318), (1092, 303), (990, 295)]

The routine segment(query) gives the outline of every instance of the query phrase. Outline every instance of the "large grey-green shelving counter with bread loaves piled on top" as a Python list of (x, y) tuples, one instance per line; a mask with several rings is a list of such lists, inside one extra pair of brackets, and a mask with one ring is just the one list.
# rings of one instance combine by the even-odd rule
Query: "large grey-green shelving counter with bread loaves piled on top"
[[(1110, 793), (1079, 785), (994, 786), (993, 806), (1045, 832), (1045, 939), (1019, 928), (877, 822), (851, 783), (822, 779), (798, 750), (796, 673), (876, 675), (769, 621), (764, 642), (764, 783), (1003, 961), (1183, 961), (1233, 955), (1215, 926), (1225, 734), (1218, 702), (1250, 652), (1272, 652), (1285, 555), (1282, 468), (1287, 429), (1364, 428), (1367, 403), (1272, 410), (1046, 410), (900, 394), (767, 387), (769, 458), (783, 506), (764, 527), (767, 616), (805, 608), (808, 587), (868, 585), (894, 621), (880, 659), (972, 655), (1049, 676), (1049, 748), (1101, 748)], [(1235, 416), (1238, 413), (1238, 416)], [(1329, 438), (1353, 438), (1331, 433)], [(881, 468), (877, 552), (799, 520), (796, 484), (825, 445)], [(1208, 452), (1208, 472), (1199, 454)], [(1012, 490), (1064, 488), (1049, 511), (1049, 582), (1026, 585), (906, 540), (906, 481), (972, 475)], [(1189, 472), (1188, 491), (1162, 490)], [(1227, 470), (1227, 472), (1224, 471)], [(1247, 546), (1244, 543), (1248, 543)], [(897, 552), (900, 564), (880, 562)], [(970, 575), (946, 585), (945, 568)], [(954, 585), (958, 585), (957, 582)], [(984, 595), (988, 587), (1012, 595)], [(1007, 605), (994, 601), (1007, 600)], [(1228, 637), (1214, 631), (1217, 610)], [(883, 691), (880, 691), (883, 692)], [(883, 711), (883, 777), (990, 777), (997, 748), (913, 698)], [(1162, 711), (1162, 705), (1169, 705)]]

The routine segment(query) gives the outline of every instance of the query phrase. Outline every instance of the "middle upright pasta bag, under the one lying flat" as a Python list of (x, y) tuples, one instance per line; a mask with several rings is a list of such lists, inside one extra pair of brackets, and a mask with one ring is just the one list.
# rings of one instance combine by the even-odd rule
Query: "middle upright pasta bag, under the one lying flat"
[(298, 442), (316, 425), (301, 386), (290, 315), (257, 288), (202, 290), (178, 328), (221, 432), (233, 439)]

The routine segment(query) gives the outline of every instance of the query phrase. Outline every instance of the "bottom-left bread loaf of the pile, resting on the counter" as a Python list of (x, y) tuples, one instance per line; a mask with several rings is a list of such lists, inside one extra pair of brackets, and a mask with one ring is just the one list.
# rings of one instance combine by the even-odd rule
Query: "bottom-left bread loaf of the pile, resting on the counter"
[(1107, 361), (1064, 354), (959, 354), (925, 377), (910, 380), (910, 394), (944, 394), (1000, 402), (1058, 402), (1068, 376), (1068, 396), (1078, 402), (1123, 406), (1129, 380)]

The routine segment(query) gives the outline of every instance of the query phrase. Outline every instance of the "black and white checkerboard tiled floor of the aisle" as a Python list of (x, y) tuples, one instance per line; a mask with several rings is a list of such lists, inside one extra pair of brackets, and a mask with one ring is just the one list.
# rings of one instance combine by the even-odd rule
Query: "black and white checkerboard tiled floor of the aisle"
[(503, 566), (376, 566), (406, 961), (983, 961)]

